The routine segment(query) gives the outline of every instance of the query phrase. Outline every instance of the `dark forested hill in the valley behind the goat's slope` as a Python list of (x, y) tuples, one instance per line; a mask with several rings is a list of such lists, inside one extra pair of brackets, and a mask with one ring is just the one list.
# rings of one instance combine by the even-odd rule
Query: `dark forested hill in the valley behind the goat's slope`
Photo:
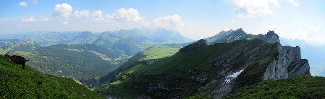
[(124, 61), (120, 55), (92, 44), (60, 44), (13, 54), (29, 59), (27, 64), (42, 73), (76, 80), (104, 76)]

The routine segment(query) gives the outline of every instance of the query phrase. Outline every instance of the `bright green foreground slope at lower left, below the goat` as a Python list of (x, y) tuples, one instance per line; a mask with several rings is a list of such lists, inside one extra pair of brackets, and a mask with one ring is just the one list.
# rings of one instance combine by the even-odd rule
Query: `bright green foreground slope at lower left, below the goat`
[(0, 57), (0, 98), (101, 98), (70, 78), (25, 67), (22, 70), (21, 65)]

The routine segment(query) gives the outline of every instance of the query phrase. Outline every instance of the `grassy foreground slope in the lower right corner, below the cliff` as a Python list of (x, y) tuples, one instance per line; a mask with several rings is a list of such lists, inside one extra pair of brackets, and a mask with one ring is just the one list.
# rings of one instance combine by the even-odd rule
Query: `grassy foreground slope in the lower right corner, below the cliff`
[(225, 98), (325, 98), (325, 77), (265, 80)]

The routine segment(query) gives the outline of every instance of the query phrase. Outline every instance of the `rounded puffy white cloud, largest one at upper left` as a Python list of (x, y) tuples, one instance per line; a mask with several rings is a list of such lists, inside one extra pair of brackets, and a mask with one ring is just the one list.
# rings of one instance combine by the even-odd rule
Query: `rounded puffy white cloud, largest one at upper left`
[(71, 5), (67, 3), (63, 4), (56, 4), (54, 11), (53, 11), (53, 16), (57, 17), (64, 17), (65, 19), (69, 19), (69, 15), (71, 14), (72, 7)]

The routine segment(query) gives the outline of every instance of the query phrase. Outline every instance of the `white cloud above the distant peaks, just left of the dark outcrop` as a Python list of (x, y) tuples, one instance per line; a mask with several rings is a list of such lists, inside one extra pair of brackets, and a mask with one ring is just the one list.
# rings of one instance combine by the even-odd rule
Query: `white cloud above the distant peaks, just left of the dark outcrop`
[(173, 16), (165, 16), (165, 17), (159, 17), (155, 18), (152, 23), (155, 27), (165, 27), (167, 29), (176, 29), (179, 26), (183, 25), (183, 22), (181, 21), (182, 17), (178, 16), (177, 14)]

